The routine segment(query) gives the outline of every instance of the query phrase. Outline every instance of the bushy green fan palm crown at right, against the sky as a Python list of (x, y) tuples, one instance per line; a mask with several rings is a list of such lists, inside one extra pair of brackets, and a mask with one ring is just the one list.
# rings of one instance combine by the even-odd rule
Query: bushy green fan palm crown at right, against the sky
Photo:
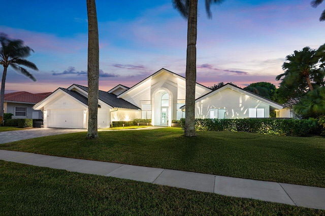
[(306, 83), (309, 90), (312, 91), (314, 87), (310, 79), (318, 78), (319, 73), (322, 74), (320, 69), (316, 69), (319, 57), (315, 54), (316, 50), (305, 47), (300, 51), (294, 51), (294, 54), (286, 56), (288, 62), (284, 62), (282, 65), (284, 73), (278, 75), (276, 80), (284, 77), (283, 82), (288, 86)]

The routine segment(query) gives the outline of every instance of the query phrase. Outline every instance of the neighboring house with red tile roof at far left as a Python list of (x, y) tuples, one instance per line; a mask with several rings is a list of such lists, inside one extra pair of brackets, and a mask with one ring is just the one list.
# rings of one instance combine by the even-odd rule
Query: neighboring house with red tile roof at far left
[(5, 94), (4, 113), (12, 113), (13, 119), (43, 119), (43, 113), (33, 110), (32, 106), (52, 92), (33, 94), (25, 91)]

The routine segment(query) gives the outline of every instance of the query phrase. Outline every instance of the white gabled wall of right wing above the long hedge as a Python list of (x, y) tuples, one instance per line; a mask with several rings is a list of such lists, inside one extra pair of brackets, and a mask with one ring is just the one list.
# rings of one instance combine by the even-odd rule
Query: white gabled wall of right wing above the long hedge
[(270, 105), (230, 88), (215, 93), (196, 103), (196, 118), (210, 118), (210, 109), (225, 109), (226, 119), (249, 118), (249, 108), (264, 108), (264, 116), (270, 116)]

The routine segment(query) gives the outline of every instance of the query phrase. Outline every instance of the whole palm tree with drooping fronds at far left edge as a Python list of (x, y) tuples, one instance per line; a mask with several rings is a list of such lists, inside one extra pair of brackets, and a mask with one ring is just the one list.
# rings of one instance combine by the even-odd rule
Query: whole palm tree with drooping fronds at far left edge
[(11, 66), (14, 70), (19, 71), (22, 75), (28, 77), (32, 81), (36, 81), (36, 78), (20, 65), (26, 66), (33, 70), (38, 70), (38, 68), (34, 63), (25, 59), (26, 57), (30, 56), (31, 52), (34, 52), (34, 50), (25, 46), (23, 41), (12, 40), (8, 38), (7, 34), (0, 33), (0, 43), (0, 64), (4, 66), (0, 98), (0, 125), (2, 125), (4, 119), (4, 98), (7, 68)]

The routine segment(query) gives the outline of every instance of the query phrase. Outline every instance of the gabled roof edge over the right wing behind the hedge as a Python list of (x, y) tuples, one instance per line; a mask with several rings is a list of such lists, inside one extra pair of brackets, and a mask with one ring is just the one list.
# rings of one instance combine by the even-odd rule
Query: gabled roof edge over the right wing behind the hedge
[[(255, 94), (255, 93), (252, 93), (252, 92), (247, 91), (245, 89), (242, 89), (242, 88), (240, 88), (238, 86), (235, 86), (232, 83), (227, 83), (227, 84), (221, 86), (220, 88), (215, 89), (212, 92), (209, 92), (209, 93), (207, 93), (205, 95), (202, 95), (201, 97), (197, 98), (195, 100), (195, 102), (197, 103), (197, 102), (199, 102), (199, 101), (201, 101), (201, 100), (203, 100), (203, 99), (205, 99), (207, 97), (210, 97), (210, 96), (212, 96), (212, 95), (214, 95), (214, 94), (216, 94), (216, 93), (218, 93), (218, 92), (220, 92), (220, 91), (222, 91), (222, 90), (224, 90), (226, 88), (230, 88), (230, 89), (235, 90), (235, 91), (237, 91), (239, 93), (246, 94), (246, 95), (248, 95), (248, 96), (250, 96), (252, 98), (255, 98), (256, 100), (261, 100), (262, 102), (265, 102), (265, 103), (269, 104), (270, 106), (276, 107), (277, 109), (282, 109), (284, 107), (283, 105), (281, 105), (281, 104), (279, 104), (277, 102), (274, 102), (274, 101), (272, 101), (272, 100), (270, 100), (268, 98), (262, 97), (262, 96), (260, 96), (258, 94)], [(181, 106), (180, 109), (182, 109), (182, 110), (185, 109), (185, 106), (186, 105)]]

